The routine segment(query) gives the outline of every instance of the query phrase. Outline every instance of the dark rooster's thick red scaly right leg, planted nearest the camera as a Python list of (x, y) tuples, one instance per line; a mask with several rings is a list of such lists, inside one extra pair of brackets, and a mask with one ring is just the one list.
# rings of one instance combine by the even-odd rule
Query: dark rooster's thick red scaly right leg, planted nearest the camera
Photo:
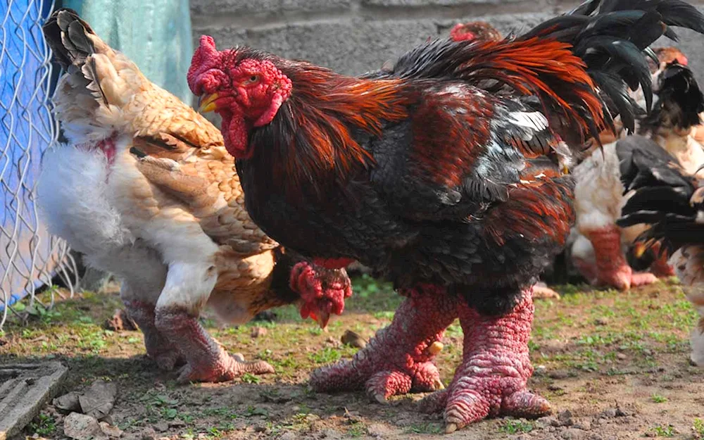
[(458, 303), (465, 334), (462, 364), (448, 389), (421, 403), (426, 412), (444, 412), (446, 432), (489, 416), (541, 417), (551, 412), (545, 398), (526, 388), (533, 372), (528, 357), (533, 310), (529, 291), (501, 317), (479, 315)]

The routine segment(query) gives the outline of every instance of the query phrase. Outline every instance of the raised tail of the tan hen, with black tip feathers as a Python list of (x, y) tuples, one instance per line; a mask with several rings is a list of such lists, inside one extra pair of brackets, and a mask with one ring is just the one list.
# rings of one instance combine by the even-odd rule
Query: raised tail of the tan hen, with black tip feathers
[(66, 70), (54, 95), (54, 111), (67, 136), (84, 142), (119, 130), (125, 123), (120, 108), (151, 89), (151, 82), (71, 9), (51, 14), (42, 31), (54, 59)]

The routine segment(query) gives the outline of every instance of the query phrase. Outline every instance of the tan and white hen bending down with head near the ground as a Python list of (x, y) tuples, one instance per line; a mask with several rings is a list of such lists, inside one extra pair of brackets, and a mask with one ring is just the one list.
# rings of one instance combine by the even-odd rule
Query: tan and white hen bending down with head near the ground
[(244, 209), (220, 131), (149, 82), (74, 11), (44, 25), (67, 70), (54, 113), (71, 143), (44, 156), (39, 205), (52, 232), (122, 281), (146, 351), (180, 382), (273, 372), (228, 355), (199, 324), (203, 306), (246, 322), (298, 303), (327, 324), (351, 284), (267, 237)]

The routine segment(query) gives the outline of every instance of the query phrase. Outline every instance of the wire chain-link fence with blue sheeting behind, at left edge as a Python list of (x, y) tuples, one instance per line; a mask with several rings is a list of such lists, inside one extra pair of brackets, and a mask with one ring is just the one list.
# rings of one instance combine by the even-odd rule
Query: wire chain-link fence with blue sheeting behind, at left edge
[(73, 285), (68, 247), (46, 232), (34, 203), (42, 153), (58, 137), (48, 99), (57, 72), (42, 35), (52, 3), (0, 0), (0, 329), (11, 314), (53, 306), (55, 289), (43, 302), (34, 293), (54, 276)]

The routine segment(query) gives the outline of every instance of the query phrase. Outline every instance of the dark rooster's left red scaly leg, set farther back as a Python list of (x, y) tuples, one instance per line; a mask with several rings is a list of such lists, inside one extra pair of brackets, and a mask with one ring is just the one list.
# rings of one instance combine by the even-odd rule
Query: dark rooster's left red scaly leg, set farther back
[(315, 391), (344, 391), (364, 387), (370, 398), (385, 403), (396, 394), (444, 388), (435, 355), (440, 340), (457, 317), (456, 300), (442, 287), (417, 286), (401, 291), (408, 296), (389, 327), (379, 330), (352, 360), (315, 370)]

